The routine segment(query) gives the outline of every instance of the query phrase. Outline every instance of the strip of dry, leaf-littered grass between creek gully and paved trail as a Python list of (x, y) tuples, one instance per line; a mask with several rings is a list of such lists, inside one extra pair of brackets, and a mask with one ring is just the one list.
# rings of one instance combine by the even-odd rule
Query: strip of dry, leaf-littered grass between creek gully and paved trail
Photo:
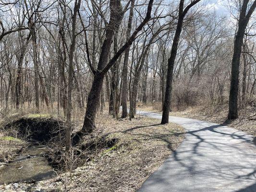
[(51, 180), (19, 185), (23, 190), (30, 187), (49, 192), (134, 192), (183, 140), (182, 127), (158, 123), (146, 117), (113, 120), (103, 114), (97, 120), (96, 132), (117, 138), (114, 146), (102, 149), (71, 175), (63, 173)]

